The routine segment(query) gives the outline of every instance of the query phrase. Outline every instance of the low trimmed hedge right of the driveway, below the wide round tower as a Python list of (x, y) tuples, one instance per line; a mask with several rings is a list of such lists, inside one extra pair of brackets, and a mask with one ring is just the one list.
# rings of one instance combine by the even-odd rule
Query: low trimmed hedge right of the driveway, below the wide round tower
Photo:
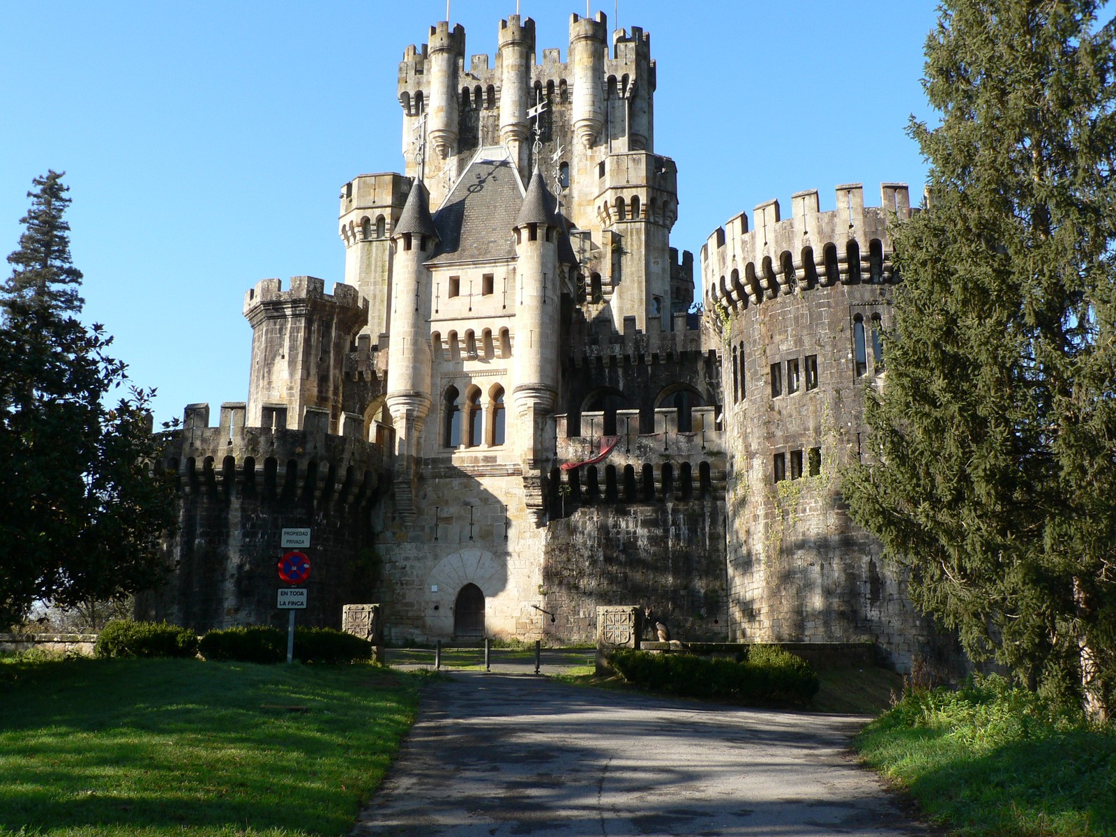
[(609, 665), (633, 685), (683, 698), (807, 703), (818, 692), (814, 666), (777, 645), (752, 645), (739, 662), (622, 648)]

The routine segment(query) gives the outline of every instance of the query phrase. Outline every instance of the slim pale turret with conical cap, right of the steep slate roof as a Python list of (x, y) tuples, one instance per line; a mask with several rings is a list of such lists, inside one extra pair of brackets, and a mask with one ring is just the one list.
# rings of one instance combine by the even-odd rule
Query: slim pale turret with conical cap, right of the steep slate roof
[(533, 468), (541, 458), (546, 415), (558, 393), (558, 225), (554, 198), (536, 167), (516, 219), (518, 281), (516, 312), (516, 412), (523, 439), (522, 458)]

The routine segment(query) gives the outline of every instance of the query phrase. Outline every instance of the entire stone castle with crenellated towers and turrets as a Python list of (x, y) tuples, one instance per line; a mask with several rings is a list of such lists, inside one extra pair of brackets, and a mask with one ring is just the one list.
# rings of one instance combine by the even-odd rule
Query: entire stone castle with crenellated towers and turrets
[(760, 204), (670, 246), (637, 27), (573, 15), (567, 60), (500, 21), (494, 62), (431, 27), (400, 65), (403, 174), (341, 187), (344, 282), (249, 290), (248, 401), (186, 408), (176, 569), (143, 615), (275, 622), (283, 527), (312, 530), (309, 622), (387, 638), (586, 641), (643, 604), (693, 639), (873, 641), (932, 626), (848, 518), (907, 190)]

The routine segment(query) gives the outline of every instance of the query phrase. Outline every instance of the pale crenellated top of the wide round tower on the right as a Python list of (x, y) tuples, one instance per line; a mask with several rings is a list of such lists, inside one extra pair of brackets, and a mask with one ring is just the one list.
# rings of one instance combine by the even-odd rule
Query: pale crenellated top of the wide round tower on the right
[(864, 205), (864, 187), (836, 187), (837, 209), (819, 210), (817, 190), (791, 196), (791, 217), (779, 201), (758, 204), (753, 229), (741, 212), (719, 227), (701, 249), (706, 307), (731, 310), (779, 295), (833, 285), (888, 283), (892, 267), (887, 224), (913, 211), (905, 183), (883, 183), (881, 206)]

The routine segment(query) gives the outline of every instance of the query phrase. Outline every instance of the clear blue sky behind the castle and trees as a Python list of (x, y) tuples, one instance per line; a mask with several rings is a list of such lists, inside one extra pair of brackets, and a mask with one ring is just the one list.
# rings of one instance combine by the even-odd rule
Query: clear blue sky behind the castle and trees
[[(616, 25), (615, 3), (594, 3)], [(496, 49), (514, 0), (454, 0), (469, 54)], [(537, 46), (568, 45), (584, 1), (521, 0)], [(933, 0), (619, 2), (658, 65), (655, 151), (679, 165), (672, 243), (696, 252), (741, 210), (881, 181), (921, 194), (904, 133)], [(340, 281), (339, 187), (401, 171), (398, 60), (444, 0), (353, 3), (0, 2), (0, 251), (31, 179), (66, 171), (86, 318), (115, 335), (158, 421), (243, 401), (243, 294), (308, 273)], [(8, 266), (3, 264), (4, 276)]]

